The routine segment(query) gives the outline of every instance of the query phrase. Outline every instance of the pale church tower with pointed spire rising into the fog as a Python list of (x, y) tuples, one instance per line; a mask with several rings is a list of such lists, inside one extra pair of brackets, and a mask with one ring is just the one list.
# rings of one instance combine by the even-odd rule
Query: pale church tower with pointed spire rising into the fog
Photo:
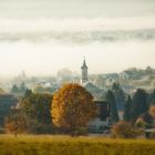
[(81, 66), (81, 70), (82, 70), (82, 84), (83, 84), (83, 83), (89, 81), (87, 66), (86, 66), (85, 58), (84, 58), (84, 61), (83, 61), (83, 65)]

